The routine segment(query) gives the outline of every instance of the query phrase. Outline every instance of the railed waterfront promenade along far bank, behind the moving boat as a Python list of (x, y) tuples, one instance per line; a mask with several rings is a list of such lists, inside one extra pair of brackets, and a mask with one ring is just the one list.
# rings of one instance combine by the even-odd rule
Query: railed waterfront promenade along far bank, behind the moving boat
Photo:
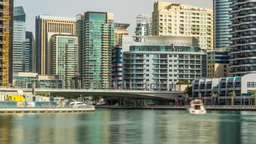
[[(96, 105), (96, 109), (173, 109), (173, 110), (186, 110), (189, 108), (186, 106), (175, 106), (175, 105), (146, 105), (146, 106), (111, 106), (111, 105)], [(238, 111), (256, 111), (256, 106), (211, 106), (206, 105), (206, 110), (238, 110)]]

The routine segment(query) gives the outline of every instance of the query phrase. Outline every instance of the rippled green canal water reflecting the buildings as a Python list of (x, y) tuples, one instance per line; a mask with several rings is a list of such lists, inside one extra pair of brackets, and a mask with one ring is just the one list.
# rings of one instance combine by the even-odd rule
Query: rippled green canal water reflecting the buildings
[(0, 143), (255, 144), (256, 112), (97, 109), (0, 114)]

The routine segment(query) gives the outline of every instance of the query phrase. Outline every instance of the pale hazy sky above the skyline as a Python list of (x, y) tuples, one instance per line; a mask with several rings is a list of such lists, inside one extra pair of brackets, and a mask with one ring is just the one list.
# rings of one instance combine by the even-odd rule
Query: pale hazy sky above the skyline
[[(136, 27), (135, 17), (148, 14), (152, 17), (154, 2), (157, 0), (14, 0), (15, 6), (23, 6), (26, 13), (26, 30), (35, 36), (35, 17), (40, 14), (75, 17), (86, 11), (110, 12), (115, 15), (115, 22), (131, 24), (129, 34), (133, 35)], [(213, 8), (212, 0), (164, 0), (203, 8)]]

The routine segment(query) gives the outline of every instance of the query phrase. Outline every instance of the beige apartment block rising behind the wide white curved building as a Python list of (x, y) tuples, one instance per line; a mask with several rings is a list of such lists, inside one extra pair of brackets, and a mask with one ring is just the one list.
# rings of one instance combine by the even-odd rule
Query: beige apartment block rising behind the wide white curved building
[(200, 48), (213, 49), (213, 10), (158, 1), (152, 12), (152, 35), (190, 36)]

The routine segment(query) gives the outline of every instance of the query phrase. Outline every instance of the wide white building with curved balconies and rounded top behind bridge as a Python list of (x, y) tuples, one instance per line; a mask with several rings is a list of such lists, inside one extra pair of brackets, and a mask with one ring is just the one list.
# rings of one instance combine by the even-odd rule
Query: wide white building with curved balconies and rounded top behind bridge
[(192, 37), (123, 36), (123, 88), (171, 90), (179, 80), (206, 76), (206, 50)]

